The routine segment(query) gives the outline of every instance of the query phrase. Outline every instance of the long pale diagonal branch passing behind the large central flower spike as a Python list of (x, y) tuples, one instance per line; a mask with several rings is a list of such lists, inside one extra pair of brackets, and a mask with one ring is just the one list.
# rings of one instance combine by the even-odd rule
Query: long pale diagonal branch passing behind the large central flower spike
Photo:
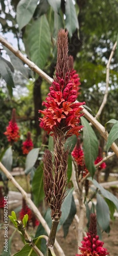
[[(25, 56), (23, 56), (23, 54), (19, 50), (15, 49), (2, 36), (0, 36), (0, 42), (4, 46), (6, 46), (11, 52), (13, 52), (18, 58), (20, 58), (23, 62), (25, 62), (29, 66), (29, 68), (31, 68), (33, 71), (35, 71), (38, 75), (40, 75), (42, 78), (44, 78), (50, 84), (52, 83), (53, 79), (50, 76), (48, 76), (41, 69), (39, 69), (32, 61), (30, 61)], [(87, 120), (89, 120), (93, 125), (95, 125), (95, 127), (99, 131), (100, 135), (107, 141), (108, 133), (105, 130), (104, 126), (102, 124), (100, 124), (90, 113), (88, 113), (88, 111), (86, 109), (84, 109), (84, 107), (83, 107), (82, 113), (84, 113), (84, 116), (87, 118)], [(116, 154), (116, 156), (118, 157), (118, 147), (116, 146), (116, 144), (114, 142), (111, 145), (111, 148), (112, 148), (113, 152)]]

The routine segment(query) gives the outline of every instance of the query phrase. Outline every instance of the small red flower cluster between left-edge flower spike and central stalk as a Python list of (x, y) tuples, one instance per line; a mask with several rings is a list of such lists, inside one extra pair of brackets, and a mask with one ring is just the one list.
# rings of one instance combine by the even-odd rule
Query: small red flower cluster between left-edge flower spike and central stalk
[(23, 155), (27, 155), (33, 148), (33, 142), (31, 139), (31, 133), (27, 133), (27, 140), (22, 143), (22, 153)]

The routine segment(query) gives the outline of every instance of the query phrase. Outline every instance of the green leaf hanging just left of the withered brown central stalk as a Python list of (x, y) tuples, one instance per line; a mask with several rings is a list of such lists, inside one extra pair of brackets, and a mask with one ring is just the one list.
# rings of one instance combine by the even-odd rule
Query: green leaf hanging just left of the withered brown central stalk
[(43, 168), (41, 165), (36, 169), (32, 180), (32, 194), (35, 205), (39, 206), (40, 201), (44, 199)]

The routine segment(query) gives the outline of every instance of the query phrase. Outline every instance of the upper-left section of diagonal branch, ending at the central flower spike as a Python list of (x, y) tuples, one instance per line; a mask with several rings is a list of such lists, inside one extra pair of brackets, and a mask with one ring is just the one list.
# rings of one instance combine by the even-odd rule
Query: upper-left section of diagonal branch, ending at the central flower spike
[(19, 50), (14, 48), (4, 37), (0, 35), (0, 42), (3, 46), (6, 46), (11, 52), (15, 54), (16, 57), (21, 59), (24, 63), (26, 63), (29, 68), (35, 71), (39, 76), (44, 78), (47, 82), (52, 83), (53, 79), (45, 74), (41, 69), (39, 69), (34, 62), (26, 58)]

